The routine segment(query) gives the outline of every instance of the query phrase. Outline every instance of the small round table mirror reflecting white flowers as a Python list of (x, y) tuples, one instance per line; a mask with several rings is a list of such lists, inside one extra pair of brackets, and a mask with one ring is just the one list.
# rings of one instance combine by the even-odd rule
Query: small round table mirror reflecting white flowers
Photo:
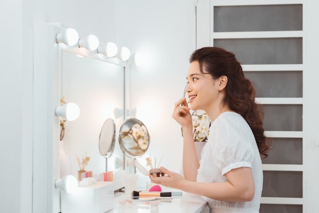
[(138, 119), (127, 119), (119, 132), (119, 144), (128, 157), (142, 156), (148, 149), (150, 136), (146, 126)]

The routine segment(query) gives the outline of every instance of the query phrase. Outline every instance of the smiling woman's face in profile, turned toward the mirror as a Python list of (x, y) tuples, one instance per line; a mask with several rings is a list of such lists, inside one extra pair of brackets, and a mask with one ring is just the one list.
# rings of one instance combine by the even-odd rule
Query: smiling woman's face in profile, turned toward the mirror
[(218, 81), (214, 80), (205, 69), (201, 73), (198, 61), (193, 61), (188, 70), (187, 82), (188, 86), (185, 89), (191, 109), (202, 109), (206, 112), (211, 109), (219, 94)]

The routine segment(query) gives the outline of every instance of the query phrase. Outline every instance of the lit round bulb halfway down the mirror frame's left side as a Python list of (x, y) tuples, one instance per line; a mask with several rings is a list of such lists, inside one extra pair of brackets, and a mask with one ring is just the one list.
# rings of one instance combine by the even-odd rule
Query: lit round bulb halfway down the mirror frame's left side
[(79, 107), (74, 103), (65, 103), (56, 108), (56, 115), (64, 117), (67, 121), (75, 121), (80, 114)]

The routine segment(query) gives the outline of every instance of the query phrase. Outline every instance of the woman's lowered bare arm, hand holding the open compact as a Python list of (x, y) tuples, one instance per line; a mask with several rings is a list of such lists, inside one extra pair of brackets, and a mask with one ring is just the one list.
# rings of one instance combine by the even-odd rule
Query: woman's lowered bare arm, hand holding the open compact
[(153, 177), (150, 175), (150, 179), (153, 183), (177, 188), (184, 192), (228, 202), (251, 201), (255, 195), (254, 178), (251, 168), (248, 167), (229, 171), (226, 173), (228, 181), (219, 183), (193, 182), (163, 167), (160, 169), (168, 176)]

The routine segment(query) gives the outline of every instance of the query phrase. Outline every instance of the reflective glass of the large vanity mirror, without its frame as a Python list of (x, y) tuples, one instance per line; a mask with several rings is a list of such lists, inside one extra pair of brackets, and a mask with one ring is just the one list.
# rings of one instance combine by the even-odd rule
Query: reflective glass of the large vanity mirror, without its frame
[[(76, 103), (81, 115), (76, 121), (66, 122), (63, 149), (67, 154), (69, 167), (66, 174), (76, 176), (78, 163), (76, 155), (90, 157), (87, 171), (100, 174), (113, 171), (115, 187), (124, 171), (124, 154), (115, 143), (120, 125), (124, 122), (124, 110), (117, 117), (114, 109), (124, 109), (125, 68), (89, 57), (61, 51), (61, 95)], [(61, 163), (62, 167), (66, 163)]]

